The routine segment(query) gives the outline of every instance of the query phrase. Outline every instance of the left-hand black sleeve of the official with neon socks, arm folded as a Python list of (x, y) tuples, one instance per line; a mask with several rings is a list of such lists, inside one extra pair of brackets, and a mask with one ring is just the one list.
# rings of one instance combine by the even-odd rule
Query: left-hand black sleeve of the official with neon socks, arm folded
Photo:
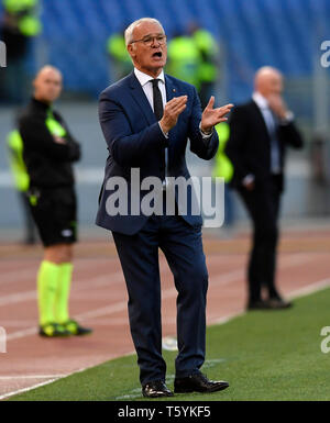
[(45, 123), (38, 118), (21, 118), (19, 131), (26, 151), (38, 152), (58, 162), (75, 162), (80, 157), (78, 143), (70, 140), (66, 144), (56, 143)]

